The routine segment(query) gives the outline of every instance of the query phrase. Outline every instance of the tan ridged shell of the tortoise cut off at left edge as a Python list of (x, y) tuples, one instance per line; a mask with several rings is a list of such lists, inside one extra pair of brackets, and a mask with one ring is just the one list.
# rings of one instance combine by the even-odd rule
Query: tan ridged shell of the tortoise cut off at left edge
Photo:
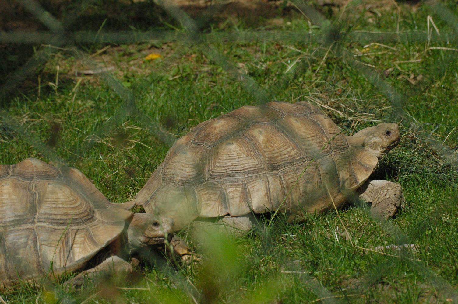
[(133, 215), (80, 171), (33, 158), (0, 165), (0, 214), (2, 287), (81, 268)]

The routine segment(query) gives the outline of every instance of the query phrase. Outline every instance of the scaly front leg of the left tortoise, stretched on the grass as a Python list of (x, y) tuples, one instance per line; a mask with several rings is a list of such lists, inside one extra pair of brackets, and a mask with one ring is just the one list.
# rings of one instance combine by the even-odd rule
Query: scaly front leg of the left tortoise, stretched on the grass
[(78, 273), (76, 277), (66, 281), (65, 284), (78, 288), (84, 283), (85, 277), (93, 281), (98, 278), (109, 277), (114, 273), (128, 275), (131, 274), (132, 271), (133, 267), (129, 262), (121, 259), (119, 256), (110, 256), (96, 267)]

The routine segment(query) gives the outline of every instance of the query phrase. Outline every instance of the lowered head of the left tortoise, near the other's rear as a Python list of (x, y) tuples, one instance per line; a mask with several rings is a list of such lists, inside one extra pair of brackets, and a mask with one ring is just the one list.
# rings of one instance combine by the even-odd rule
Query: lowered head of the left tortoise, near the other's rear
[(155, 247), (173, 238), (173, 220), (148, 213), (135, 213), (127, 228), (130, 253)]

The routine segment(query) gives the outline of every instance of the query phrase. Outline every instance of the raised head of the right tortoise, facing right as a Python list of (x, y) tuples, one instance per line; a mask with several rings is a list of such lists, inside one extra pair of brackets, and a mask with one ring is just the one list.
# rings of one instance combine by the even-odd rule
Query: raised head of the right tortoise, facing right
[(399, 143), (400, 133), (396, 123), (380, 123), (364, 128), (352, 137), (364, 139), (364, 147), (380, 159)]

